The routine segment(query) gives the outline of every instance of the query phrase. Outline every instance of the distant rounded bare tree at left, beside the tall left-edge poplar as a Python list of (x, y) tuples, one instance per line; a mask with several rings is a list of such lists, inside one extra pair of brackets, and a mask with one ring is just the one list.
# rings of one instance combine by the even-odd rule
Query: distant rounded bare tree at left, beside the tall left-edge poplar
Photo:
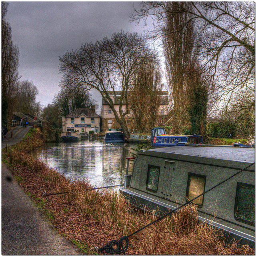
[(40, 102), (36, 102), (38, 88), (28, 80), (17, 82), (16, 89), (16, 112), (24, 114), (39, 115), (41, 111)]

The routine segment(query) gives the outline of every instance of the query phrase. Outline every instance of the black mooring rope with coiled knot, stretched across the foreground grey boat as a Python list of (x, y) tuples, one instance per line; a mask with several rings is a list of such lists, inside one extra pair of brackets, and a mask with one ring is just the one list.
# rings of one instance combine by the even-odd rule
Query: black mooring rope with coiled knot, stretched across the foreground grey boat
[[(170, 212), (166, 213), (165, 215), (163, 215), (162, 217), (152, 221), (151, 223), (149, 223), (148, 225), (136, 230), (135, 232), (133, 232), (132, 234), (130, 234), (129, 236), (122, 236), (120, 238), (120, 240), (111, 240), (109, 243), (106, 243), (105, 246), (102, 246), (101, 248), (98, 249), (98, 252), (102, 253), (103, 250), (105, 250), (105, 252), (111, 253), (111, 254), (121, 254), (126, 252), (126, 250), (128, 249), (129, 246), (129, 240), (128, 238), (138, 232), (140, 232), (141, 230), (143, 230), (144, 228), (147, 228), (148, 226), (154, 224), (155, 222), (162, 220), (162, 218), (165, 218), (166, 216), (172, 214), (172, 212), (182, 208), (183, 206), (186, 206), (187, 204), (191, 203), (192, 201), (194, 201), (195, 199), (197, 199), (198, 197), (208, 193), (210, 190), (216, 188), (217, 186), (221, 185), (222, 183), (226, 182), (227, 180), (230, 180), (231, 178), (233, 178), (234, 176), (236, 176), (237, 174), (239, 174), (240, 172), (248, 169), (250, 166), (254, 165), (255, 162), (253, 164), (250, 164), (249, 166), (247, 166), (246, 168), (240, 170), (239, 172), (235, 173), (234, 175), (230, 176), (229, 178), (227, 178), (226, 180), (223, 180), (222, 182), (220, 182), (219, 184), (215, 185), (214, 187), (208, 189), (207, 191), (203, 192), (202, 194), (200, 194), (199, 196), (196, 196), (195, 198), (191, 199), (190, 201), (186, 202), (185, 204), (182, 204), (181, 206), (179, 206), (178, 208), (171, 210)], [(123, 241), (126, 241), (126, 245), (123, 246)], [(116, 249), (113, 248), (113, 245), (116, 245)], [(121, 248), (121, 249), (120, 249)]]

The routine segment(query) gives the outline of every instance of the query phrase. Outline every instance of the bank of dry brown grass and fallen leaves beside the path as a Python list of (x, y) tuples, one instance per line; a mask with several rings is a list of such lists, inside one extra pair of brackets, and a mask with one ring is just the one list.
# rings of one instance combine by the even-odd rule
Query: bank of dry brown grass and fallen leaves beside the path
[[(155, 220), (154, 213), (141, 212), (128, 205), (114, 190), (87, 190), (88, 180), (71, 182), (28, 152), (41, 145), (42, 134), (32, 132), (13, 147), (13, 163), (8, 164), (10, 148), (2, 150), (2, 161), (12, 170), (24, 191), (44, 209), (53, 226), (68, 240), (97, 254), (110, 240), (119, 240)], [(68, 192), (46, 196), (45, 194)], [(197, 209), (188, 205), (172, 218), (162, 219), (129, 238), (127, 254), (254, 254), (248, 246), (225, 245), (224, 237), (197, 222)]]

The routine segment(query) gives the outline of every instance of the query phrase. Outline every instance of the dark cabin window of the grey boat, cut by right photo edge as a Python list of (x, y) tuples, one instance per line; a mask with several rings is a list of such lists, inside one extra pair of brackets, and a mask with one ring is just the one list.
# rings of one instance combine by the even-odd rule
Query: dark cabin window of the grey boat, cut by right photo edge
[(254, 226), (255, 186), (237, 182), (234, 215), (235, 219)]

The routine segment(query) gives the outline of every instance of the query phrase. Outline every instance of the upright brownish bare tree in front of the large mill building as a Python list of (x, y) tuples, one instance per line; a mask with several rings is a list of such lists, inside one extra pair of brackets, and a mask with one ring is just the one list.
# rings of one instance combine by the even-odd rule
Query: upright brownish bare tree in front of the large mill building
[(136, 129), (145, 132), (156, 124), (163, 89), (160, 63), (142, 64), (132, 76), (130, 108), (134, 115)]

